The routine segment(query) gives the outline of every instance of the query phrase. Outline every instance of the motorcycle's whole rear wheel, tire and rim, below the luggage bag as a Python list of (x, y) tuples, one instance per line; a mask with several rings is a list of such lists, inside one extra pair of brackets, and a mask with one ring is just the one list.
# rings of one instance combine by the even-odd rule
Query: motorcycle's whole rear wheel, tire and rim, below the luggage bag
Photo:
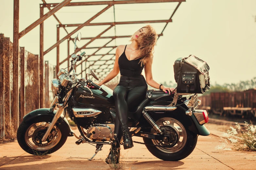
[[(173, 141), (173, 147), (164, 148), (168, 146), (166, 141), (159, 141), (155, 139), (143, 138), (145, 144), (154, 144), (159, 147), (146, 145), (146, 148), (155, 157), (164, 161), (179, 161), (186, 158), (195, 149), (197, 142), (197, 134), (192, 133), (188, 128), (184, 127), (179, 120), (165, 117), (156, 121), (159, 126), (165, 126), (165, 131), (170, 136), (177, 136), (176, 141)], [(168, 128), (169, 126), (169, 128)], [(151, 133), (156, 134), (155, 129), (151, 129)]]

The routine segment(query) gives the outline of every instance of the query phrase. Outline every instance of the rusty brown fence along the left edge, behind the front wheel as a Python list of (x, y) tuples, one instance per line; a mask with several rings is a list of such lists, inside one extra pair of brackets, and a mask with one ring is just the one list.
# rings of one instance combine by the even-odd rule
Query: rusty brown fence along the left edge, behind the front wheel
[[(23, 117), (32, 110), (39, 108), (39, 57), (26, 51), (24, 47), (19, 48), (19, 57), (14, 56), (13, 46), (9, 38), (0, 34), (0, 137), (14, 138)], [(18, 72), (13, 72), (13, 62), (19, 60)], [(55, 66), (48, 64), (44, 68), (47, 75), (45, 83), (45, 107), (53, 100), (50, 90), (49, 79), (55, 74)], [(46, 65), (45, 65), (46, 66)], [(13, 111), (13, 76), (18, 77), (18, 113)], [(46, 89), (46, 88), (45, 88)]]

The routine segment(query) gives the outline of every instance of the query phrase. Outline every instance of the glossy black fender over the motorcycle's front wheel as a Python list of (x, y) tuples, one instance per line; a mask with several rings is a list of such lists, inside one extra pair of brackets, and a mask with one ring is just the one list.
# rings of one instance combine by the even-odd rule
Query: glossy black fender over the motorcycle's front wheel
[[(26, 114), (23, 117), (24, 122), (35, 122), (35, 121), (41, 121), (41, 122), (51, 122), (54, 115), (56, 114), (56, 110), (53, 112), (50, 112), (49, 108), (40, 108), (37, 110), (33, 110), (32, 112)], [(69, 126), (68, 120), (66, 118), (63, 119), (63, 114), (60, 115), (60, 118), (57, 120), (58, 127), (60, 129), (62, 136), (73, 136), (70, 133), (73, 132), (72, 129)], [(63, 119), (61, 122), (60, 120)], [(74, 133), (74, 132), (73, 132)]]

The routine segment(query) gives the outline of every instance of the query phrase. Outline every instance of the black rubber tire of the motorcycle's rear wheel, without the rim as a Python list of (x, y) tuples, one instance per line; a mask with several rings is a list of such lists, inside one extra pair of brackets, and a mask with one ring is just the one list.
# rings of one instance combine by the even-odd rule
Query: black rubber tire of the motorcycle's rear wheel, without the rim
[[(165, 119), (165, 118), (161, 118), (161, 119)], [(176, 120), (177, 118), (176, 119), (169, 118), (169, 119)], [(156, 121), (156, 123), (159, 124), (158, 120)], [(177, 120), (177, 123), (180, 123), (179, 120)], [(183, 127), (183, 128), (186, 131), (186, 133), (185, 133), (186, 141), (182, 144), (182, 148), (179, 148), (177, 150), (170, 150), (170, 151), (166, 151), (164, 149), (160, 150), (160, 149), (162, 149), (161, 147), (154, 147), (154, 146), (149, 146), (149, 145), (146, 145), (146, 148), (155, 157), (157, 157), (161, 160), (164, 160), (164, 161), (179, 161), (179, 160), (186, 158), (195, 149), (198, 135), (189, 131), (187, 127)], [(184, 136), (184, 138), (185, 138), (185, 136)], [(151, 145), (156, 144), (156, 143), (153, 143), (152, 139), (143, 138), (143, 140), (144, 140), (145, 144), (151, 144)]]

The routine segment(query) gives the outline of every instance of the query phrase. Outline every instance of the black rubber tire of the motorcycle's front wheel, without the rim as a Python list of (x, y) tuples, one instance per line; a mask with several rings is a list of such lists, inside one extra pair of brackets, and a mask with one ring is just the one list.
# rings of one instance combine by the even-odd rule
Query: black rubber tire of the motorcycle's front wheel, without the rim
[[(28, 139), (26, 139), (26, 136), (27, 136), (26, 132), (29, 129), (31, 129), (30, 127), (32, 125), (34, 125), (35, 123), (39, 123), (39, 122), (30, 122), (30, 123), (22, 122), (20, 124), (19, 128), (18, 128), (18, 131), (17, 131), (17, 141), (18, 141), (20, 147), (23, 150), (25, 150), (27, 153), (32, 154), (32, 155), (42, 155), (42, 154), (43, 155), (48, 155), (48, 154), (51, 154), (51, 153), (59, 150), (64, 145), (64, 143), (67, 140), (67, 136), (62, 136), (61, 132), (58, 132), (58, 135), (60, 136), (60, 139), (58, 139), (58, 143), (57, 144), (55, 143), (55, 145), (52, 145), (53, 146), (52, 148), (50, 148), (50, 146), (49, 146), (49, 148), (46, 147), (46, 149), (41, 149), (40, 146), (38, 146), (38, 149), (36, 149), (36, 146), (33, 147), (33, 148), (28, 146), (28, 144), (27, 144)], [(58, 131), (60, 131), (60, 129)], [(57, 140), (57, 138), (58, 137), (56, 137), (56, 140)]]

